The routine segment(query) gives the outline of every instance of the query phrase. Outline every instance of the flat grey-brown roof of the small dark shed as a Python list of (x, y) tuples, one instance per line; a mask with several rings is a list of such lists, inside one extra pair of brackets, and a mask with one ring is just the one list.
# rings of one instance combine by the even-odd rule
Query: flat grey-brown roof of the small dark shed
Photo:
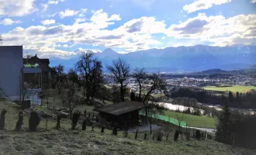
[(106, 105), (98, 108), (99, 112), (106, 112), (112, 115), (121, 115), (144, 108), (143, 102), (119, 102), (112, 105)]

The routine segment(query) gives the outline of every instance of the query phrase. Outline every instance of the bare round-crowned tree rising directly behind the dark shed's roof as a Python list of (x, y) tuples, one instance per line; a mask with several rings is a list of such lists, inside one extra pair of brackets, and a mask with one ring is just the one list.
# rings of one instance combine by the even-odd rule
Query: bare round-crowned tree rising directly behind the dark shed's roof
[(120, 84), (120, 97), (124, 102), (125, 86), (123, 85), (123, 82), (126, 81), (127, 77), (129, 77), (129, 64), (119, 58), (118, 60), (112, 61), (112, 66), (107, 65), (106, 67), (114, 75), (114, 80)]

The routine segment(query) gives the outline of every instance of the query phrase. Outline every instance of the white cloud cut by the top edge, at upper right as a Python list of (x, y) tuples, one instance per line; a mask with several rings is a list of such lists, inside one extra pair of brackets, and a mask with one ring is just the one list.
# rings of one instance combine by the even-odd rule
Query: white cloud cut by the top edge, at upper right
[(231, 2), (231, 0), (196, 0), (192, 4), (183, 6), (183, 9), (187, 12), (196, 12), (201, 9), (209, 9), (213, 5), (221, 5), (227, 2)]

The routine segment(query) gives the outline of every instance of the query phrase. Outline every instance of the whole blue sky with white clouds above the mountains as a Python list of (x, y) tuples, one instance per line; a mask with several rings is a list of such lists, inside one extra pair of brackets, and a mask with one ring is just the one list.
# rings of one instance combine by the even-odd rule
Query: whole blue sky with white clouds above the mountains
[(88, 49), (256, 43), (256, 0), (0, 0), (2, 45), (42, 57)]

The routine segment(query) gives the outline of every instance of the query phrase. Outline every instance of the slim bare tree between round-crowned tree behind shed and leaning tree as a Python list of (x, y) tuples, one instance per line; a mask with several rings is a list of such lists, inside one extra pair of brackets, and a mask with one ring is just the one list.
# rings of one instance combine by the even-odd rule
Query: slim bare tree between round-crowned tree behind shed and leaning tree
[(144, 68), (136, 68), (133, 77), (136, 78), (136, 81), (139, 84), (139, 100), (141, 101), (142, 83), (146, 79), (147, 74), (144, 71)]

